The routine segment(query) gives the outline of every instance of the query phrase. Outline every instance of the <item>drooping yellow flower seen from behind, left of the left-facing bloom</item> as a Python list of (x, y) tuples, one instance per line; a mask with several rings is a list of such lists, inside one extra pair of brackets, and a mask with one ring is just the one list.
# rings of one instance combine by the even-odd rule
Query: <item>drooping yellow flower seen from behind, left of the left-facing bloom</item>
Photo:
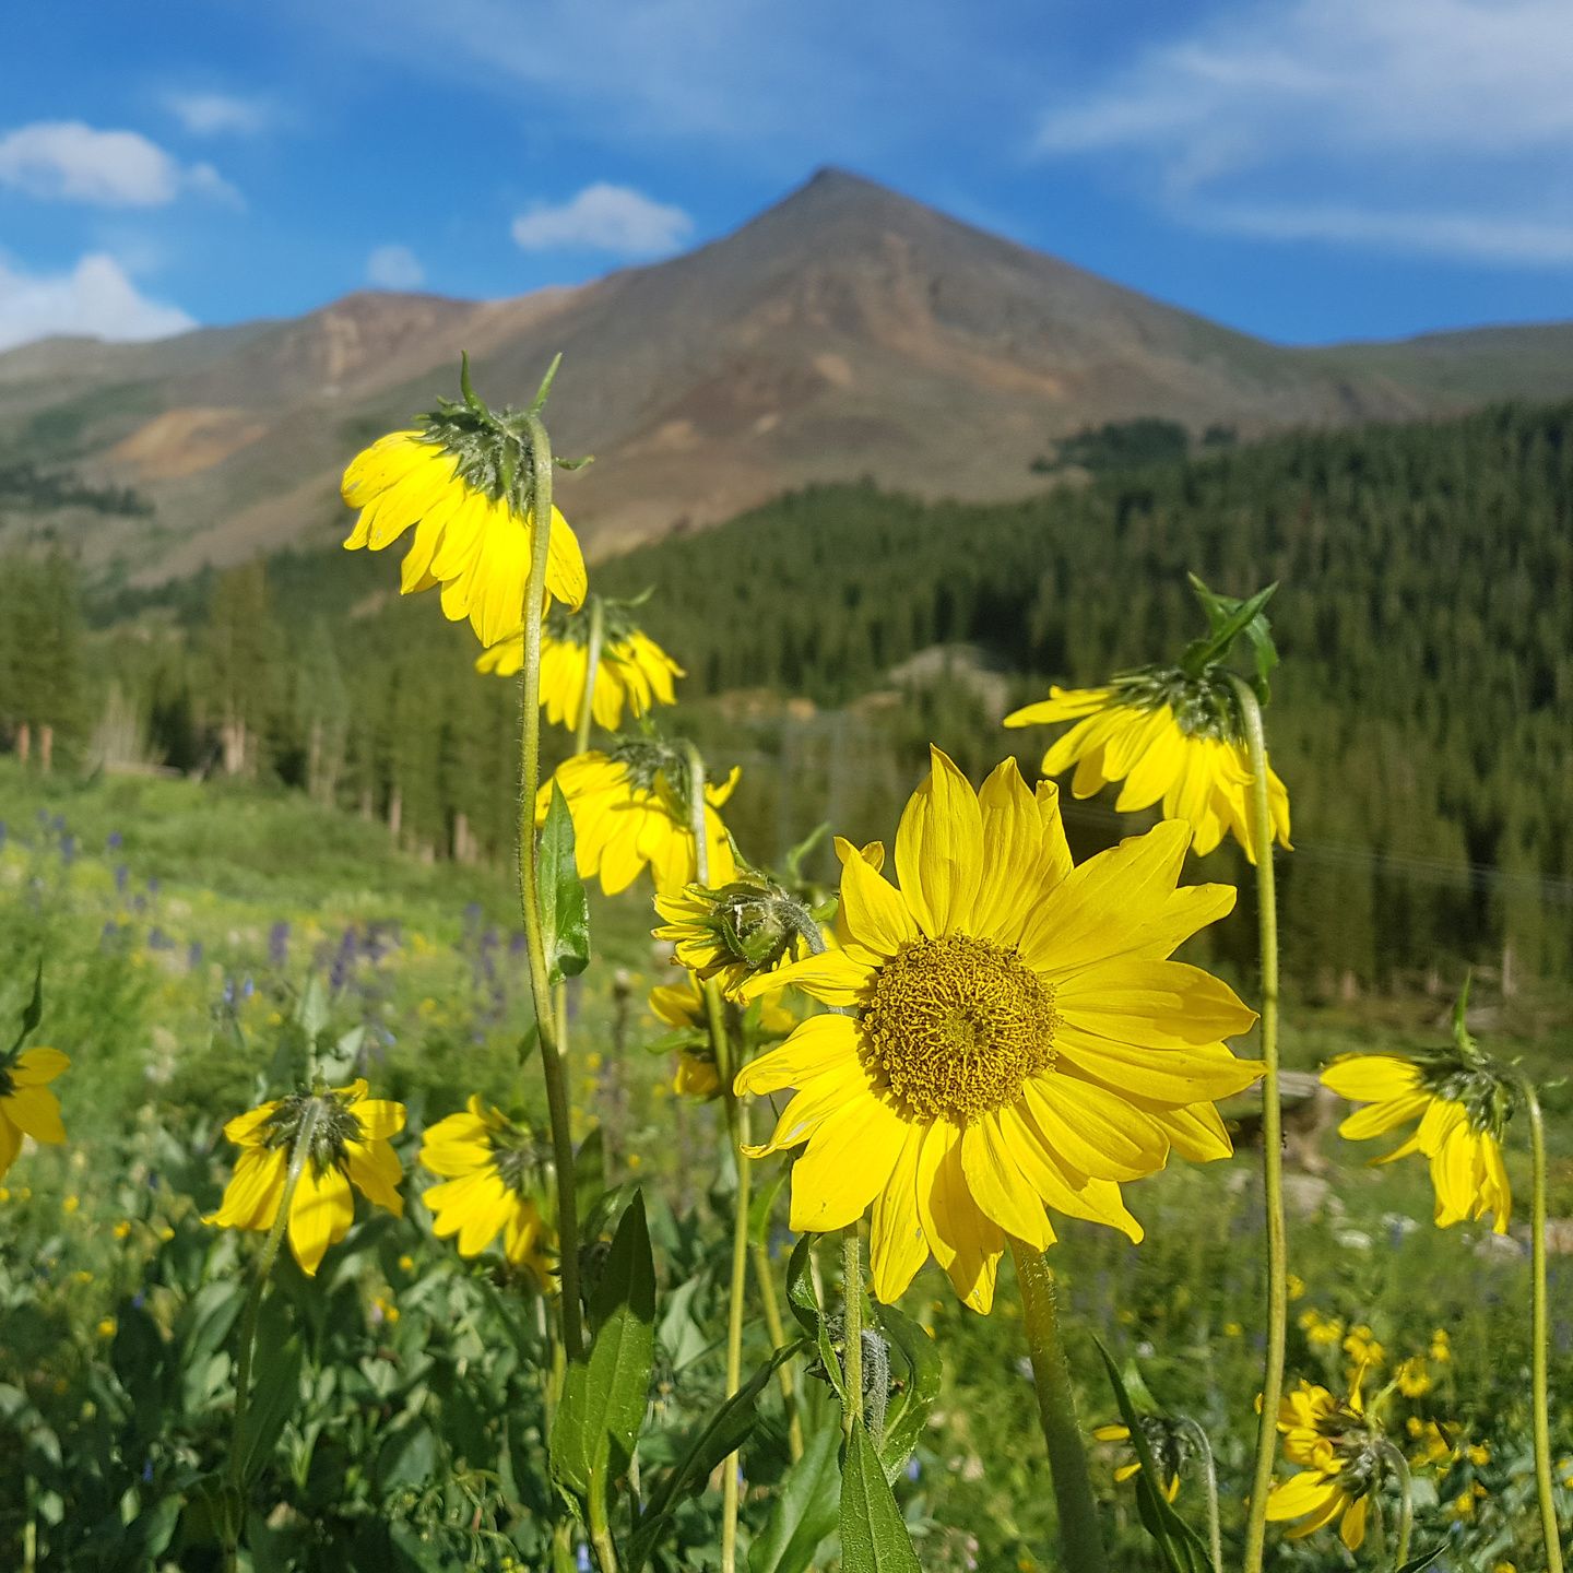
[(203, 1222), (220, 1229), (274, 1227), (289, 1153), (308, 1114), (315, 1114), (315, 1126), (288, 1224), (289, 1249), (300, 1271), (316, 1277), (327, 1247), (349, 1233), (355, 1219), (351, 1181), (367, 1200), (403, 1218), (398, 1184), (404, 1170), (389, 1137), (404, 1129), (404, 1104), (368, 1098), (367, 1090), (365, 1081), (355, 1081), (349, 1087), (294, 1093), (231, 1120), (223, 1134), (242, 1153), (219, 1211)]

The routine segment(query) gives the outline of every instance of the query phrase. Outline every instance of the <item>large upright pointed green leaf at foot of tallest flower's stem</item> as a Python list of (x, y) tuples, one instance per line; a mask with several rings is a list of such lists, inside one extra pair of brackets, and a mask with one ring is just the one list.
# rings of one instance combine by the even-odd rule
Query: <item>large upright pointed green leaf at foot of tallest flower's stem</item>
[(656, 1266), (650, 1255), (645, 1197), (635, 1191), (617, 1225), (596, 1288), (590, 1354), (568, 1367), (552, 1425), (552, 1479), (580, 1501), (604, 1491), (621, 1471), (645, 1417), (656, 1343)]

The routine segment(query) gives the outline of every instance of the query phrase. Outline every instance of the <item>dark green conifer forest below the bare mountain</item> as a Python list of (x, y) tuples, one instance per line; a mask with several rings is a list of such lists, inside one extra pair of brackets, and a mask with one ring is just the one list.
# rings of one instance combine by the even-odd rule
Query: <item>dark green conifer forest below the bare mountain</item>
[[(972, 669), (881, 697), (915, 653), (982, 647), (1024, 702), (1172, 659), (1197, 632), (1188, 569), (1235, 595), (1279, 580), (1291, 966), (1324, 991), (1433, 966), (1450, 985), (1464, 961), (1507, 953), (1567, 977), (1570, 505), (1573, 406), (1509, 406), (1288, 436), (1002, 507), (815, 488), (606, 563), (596, 584), (654, 587), (645, 623), (691, 673), (680, 724), (746, 764), (738, 813), (771, 854), (824, 805), (887, 834), (925, 736), (977, 774), (1007, 749), (1035, 764), (1048, 735), (1004, 733)], [(280, 554), (105, 610), (121, 620), (90, 635), (93, 692), (53, 720), (85, 760), (274, 779), (431, 856), (510, 854), (516, 689), (472, 672), (472, 635), (429, 596), (400, 601), (393, 562)], [(35, 662), (44, 648), (13, 643)], [(6, 672), (14, 736), (33, 698)], [(820, 711), (793, 716), (783, 695)], [(780, 783), (810, 757), (818, 785)], [(1117, 824), (1078, 834), (1090, 845)]]

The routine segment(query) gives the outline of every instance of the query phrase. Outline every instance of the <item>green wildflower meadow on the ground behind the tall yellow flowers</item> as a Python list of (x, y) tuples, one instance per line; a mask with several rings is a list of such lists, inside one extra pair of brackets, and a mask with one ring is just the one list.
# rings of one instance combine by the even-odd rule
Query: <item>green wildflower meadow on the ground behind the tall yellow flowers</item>
[[(57, 1082), (69, 1145), (24, 1156), (0, 1181), (0, 1446), (13, 1461), (0, 1477), (0, 1560), (19, 1565), (31, 1545), (44, 1573), (168, 1562), (206, 1573), (214, 1554), (197, 1543), (200, 1524), (179, 1513), (228, 1446), (227, 1350), (258, 1243), (201, 1222), (233, 1161), (219, 1126), (274, 1095), (282, 1051), (307, 1030), (330, 1051), (348, 1043), (376, 1092), (407, 1103), (411, 1123), (396, 1144), (407, 1175), (420, 1175), (420, 1131), (470, 1092), (540, 1118), (538, 1068), (529, 1059), (521, 1071), (519, 1062), (530, 1013), (511, 882), (502, 868), (401, 856), (384, 826), (244, 782), (83, 785), (0, 761), (0, 818), (9, 826), (0, 848), (0, 1026), (19, 1015), (42, 955), (36, 1040), (74, 1062)], [(697, 1285), (658, 1331), (661, 1413), (642, 1441), (647, 1490), (720, 1392), (730, 1230), (714, 1107), (675, 1106), (670, 1057), (640, 1052), (664, 1033), (643, 1008), (648, 986), (667, 980), (651, 958), (650, 922), (642, 890), (595, 901), (604, 964), (574, 989), (571, 1070), (577, 1129), (599, 1128), (585, 1150), (587, 1184), (598, 1164), (612, 1184), (642, 1180), (662, 1280)], [(1499, 1022), (1496, 1044), (1523, 1052), (1534, 1074), (1565, 1055), (1567, 1029), (1537, 1029), (1523, 997), (1479, 997)], [(1310, 1068), (1351, 1048), (1444, 1035), (1424, 1007), (1301, 1013), (1287, 1057)], [(1240, 1112), (1249, 1117), (1249, 1107)], [(1549, 1114), (1551, 1208), (1568, 1216), (1567, 1089), (1553, 1093)], [(1452, 1361), (1430, 1364), (1427, 1392), (1395, 1395), (1389, 1420), (1400, 1435), (1409, 1417), (1457, 1422), (1458, 1449), (1483, 1452), (1479, 1463), (1449, 1452), (1420, 1471), (1422, 1543), (1457, 1524), (1455, 1573), (1488, 1573), (1499, 1560), (1534, 1567), (1518, 1376), (1524, 1255), (1486, 1243), (1485, 1225), (1435, 1230), (1419, 1161), (1369, 1170), (1362, 1150), (1331, 1134), (1323, 1145), (1326, 1175), (1295, 1180), (1291, 1251), (1306, 1288), (1291, 1307), (1301, 1320), (1291, 1324), (1290, 1370), (1342, 1384), (1348, 1359), (1326, 1334), (1334, 1321), (1369, 1328), (1387, 1373), (1447, 1328)], [(1520, 1192), (1521, 1147), (1515, 1129), (1507, 1156)], [(771, 1240), (780, 1254), (788, 1236), (774, 1172), (764, 1167), (760, 1186), (775, 1197)], [(362, 1205), (316, 1280), (288, 1254), (275, 1269), (263, 1357), (275, 1376), (294, 1378), (299, 1403), (278, 1417), (255, 1490), (272, 1504), (252, 1526), (258, 1568), (458, 1573), (507, 1568), (507, 1557), (532, 1568), (549, 1562), (551, 1504), (535, 1486), (544, 1469), (538, 1302), (495, 1260), (462, 1263), (433, 1236), (418, 1202), (429, 1180), (406, 1181), (403, 1221)], [(1128, 1197), (1148, 1230), (1144, 1244), (1068, 1222), (1054, 1252), (1081, 1409), (1089, 1424), (1115, 1413), (1096, 1375), (1098, 1335), (1122, 1365), (1136, 1362), (1164, 1403), (1206, 1425), (1233, 1535), (1258, 1381), (1255, 1155), (1243, 1147), (1206, 1167), (1177, 1159)], [(834, 1273), (834, 1251), (824, 1255)], [(1565, 1262), (1553, 1262), (1564, 1450), (1573, 1392)], [(925, 1573), (1052, 1565), (1052, 1493), (1019, 1372), (1008, 1274), (1007, 1263), (989, 1318), (958, 1307), (934, 1268), (903, 1302), (947, 1354), (915, 1468), (897, 1491)], [(766, 1353), (753, 1320), (746, 1369)], [(746, 1453), (746, 1553), (764, 1537), (786, 1468), (774, 1389), (761, 1408)], [(812, 1376), (804, 1417), (810, 1438), (837, 1427), (834, 1398)], [(1115, 1526), (1112, 1551), (1120, 1568), (1155, 1573), (1131, 1486), (1114, 1480), (1123, 1461), (1118, 1444), (1104, 1444), (1093, 1463)], [(1468, 1512), (1457, 1507), (1461, 1497)], [(1200, 1523), (1194, 1477), (1178, 1505)], [(717, 1524), (717, 1491), (689, 1501), (656, 1565), (713, 1567)], [(1332, 1573), (1345, 1564), (1320, 1535), (1284, 1543), (1274, 1565)]]

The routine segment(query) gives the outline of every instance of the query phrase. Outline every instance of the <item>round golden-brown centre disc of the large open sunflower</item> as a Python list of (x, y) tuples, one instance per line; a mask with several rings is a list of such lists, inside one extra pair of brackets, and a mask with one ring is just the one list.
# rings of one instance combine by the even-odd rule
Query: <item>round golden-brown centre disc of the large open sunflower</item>
[(971, 934), (904, 944), (864, 1011), (890, 1090), (920, 1117), (960, 1122), (1015, 1103), (1054, 1063), (1057, 1024), (1054, 991), (1021, 953)]

